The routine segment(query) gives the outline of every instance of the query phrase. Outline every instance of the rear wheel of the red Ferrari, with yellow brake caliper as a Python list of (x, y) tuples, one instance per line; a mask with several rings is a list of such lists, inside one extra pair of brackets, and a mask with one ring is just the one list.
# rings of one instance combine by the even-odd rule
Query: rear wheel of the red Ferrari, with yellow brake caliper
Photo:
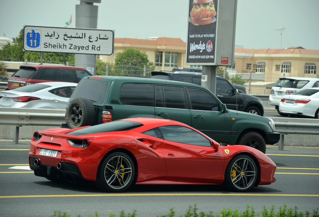
[(102, 162), (96, 177), (96, 185), (102, 190), (122, 192), (133, 182), (135, 167), (125, 153), (115, 152)]

